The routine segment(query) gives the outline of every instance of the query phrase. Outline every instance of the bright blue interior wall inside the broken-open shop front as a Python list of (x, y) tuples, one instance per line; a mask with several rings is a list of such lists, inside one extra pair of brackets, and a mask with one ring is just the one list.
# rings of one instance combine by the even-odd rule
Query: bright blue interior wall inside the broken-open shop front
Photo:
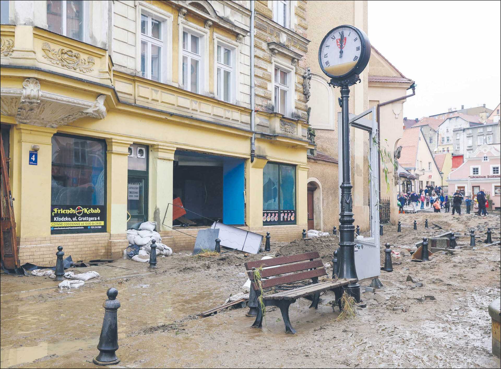
[(222, 221), (224, 224), (244, 224), (243, 181), (243, 159), (224, 158), (222, 181)]

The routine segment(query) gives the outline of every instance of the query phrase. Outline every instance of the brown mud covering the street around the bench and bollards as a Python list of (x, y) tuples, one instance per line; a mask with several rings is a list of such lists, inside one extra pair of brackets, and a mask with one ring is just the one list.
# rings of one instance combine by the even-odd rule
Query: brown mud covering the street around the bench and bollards
[[(425, 230), (424, 218), (460, 235), (474, 228), (482, 237), (476, 249), (410, 262), (406, 248), (442, 232)], [(414, 219), (418, 230), (412, 229)], [(402, 232), (385, 226), (381, 243), (406, 255), (393, 259), (393, 272), (382, 272), (385, 288), (362, 294), (367, 308), (355, 319), (335, 321), (339, 312), (328, 304), (334, 298), (330, 292), (318, 310), (300, 299), (290, 309), (295, 335), (285, 333), (275, 308), (268, 309), (263, 329), (250, 328), (254, 319), (245, 317), (246, 308), (196, 316), (239, 292), (246, 280), (243, 263), (258, 255), (180, 253), (159, 258), (153, 273), (148, 264), (118, 260), (78, 269), (96, 270), (101, 277), (69, 293), (60, 293), (57, 282), (46, 277), (1, 274), (0, 366), (96, 367), (102, 304), (106, 290), (116, 287), (122, 304), (117, 351), (122, 361), (116, 367), (499, 367), (491, 354), (487, 312), (500, 294), (499, 248), (479, 242), (487, 226), (499, 237), (499, 216), (418, 213), (401, 214), (400, 220)], [(336, 237), (272, 242), (271, 253), (319, 251), (327, 263), (337, 242)], [(469, 245), (469, 237), (458, 244)], [(423, 286), (406, 281), (408, 274)]]

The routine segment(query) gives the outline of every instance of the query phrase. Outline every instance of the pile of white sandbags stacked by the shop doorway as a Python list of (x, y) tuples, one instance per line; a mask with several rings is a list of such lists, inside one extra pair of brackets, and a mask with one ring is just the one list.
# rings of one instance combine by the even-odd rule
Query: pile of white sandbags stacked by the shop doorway
[(155, 231), (156, 222), (141, 223), (139, 229), (128, 229), (127, 240), (129, 247), (124, 250), (124, 258), (138, 262), (148, 262), (151, 252), (151, 241), (155, 240), (156, 254), (172, 255), (172, 249), (162, 243), (160, 234)]

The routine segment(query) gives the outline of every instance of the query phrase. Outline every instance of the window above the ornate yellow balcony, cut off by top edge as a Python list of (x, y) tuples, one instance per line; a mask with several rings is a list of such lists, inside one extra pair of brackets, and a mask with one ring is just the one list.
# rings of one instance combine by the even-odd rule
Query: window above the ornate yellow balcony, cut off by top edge
[(72, 39), (84, 40), (84, 2), (82, 0), (47, 0), (49, 31)]

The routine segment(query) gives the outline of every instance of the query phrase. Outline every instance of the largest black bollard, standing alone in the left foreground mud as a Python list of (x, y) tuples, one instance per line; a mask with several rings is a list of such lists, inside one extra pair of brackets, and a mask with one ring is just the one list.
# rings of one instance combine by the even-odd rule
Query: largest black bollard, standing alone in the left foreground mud
[(106, 294), (108, 295), (108, 299), (103, 303), (103, 327), (101, 328), (101, 336), (97, 345), (99, 355), (92, 359), (96, 365), (115, 365), (120, 362), (115, 353), (118, 350), (117, 310), (120, 307), (120, 301), (116, 299), (118, 290), (111, 287), (108, 288)]

